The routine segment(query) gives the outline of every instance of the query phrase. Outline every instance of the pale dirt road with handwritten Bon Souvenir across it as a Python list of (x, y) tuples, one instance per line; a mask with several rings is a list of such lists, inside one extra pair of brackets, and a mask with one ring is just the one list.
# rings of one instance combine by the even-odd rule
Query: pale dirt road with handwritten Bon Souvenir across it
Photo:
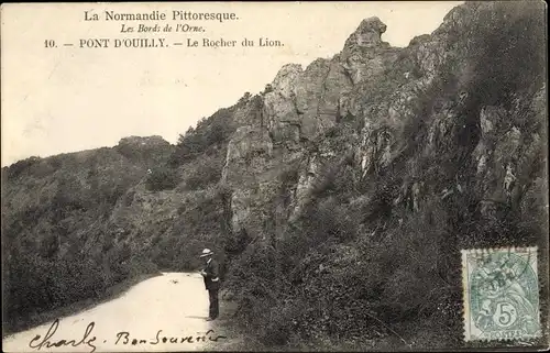
[(112, 301), (8, 337), (2, 345), (4, 352), (216, 350), (229, 338), (212, 330), (207, 316), (202, 277), (164, 273)]

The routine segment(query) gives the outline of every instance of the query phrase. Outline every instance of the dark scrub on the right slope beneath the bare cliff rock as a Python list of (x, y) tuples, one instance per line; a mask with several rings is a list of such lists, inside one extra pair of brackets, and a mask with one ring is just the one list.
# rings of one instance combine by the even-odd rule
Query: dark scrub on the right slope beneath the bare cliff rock
[[(543, 152), (520, 162), (526, 187), (491, 201), (491, 212), (473, 163), (482, 107), (501, 106), (513, 119), (495, 122), (496, 136), (513, 126), (543, 131), (529, 106), (544, 79), (543, 19), (537, 7), (512, 4), (483, 14), (455, 38), (469, 38), (471, 69), (443, 66), (406, 126), (402, 158), (366, 176), (342, 158), (328, 162), (301, 217), (233, 257), (238, 316), (266, 344), (329, 338), (365, 346), (381, 337), (394, 346), (461, 344), (460, 250), (544, 245), (548, 214), (536, 197), (544, 194)], [(458, 120), (449, 140), (426, 152), (441, 106)]]

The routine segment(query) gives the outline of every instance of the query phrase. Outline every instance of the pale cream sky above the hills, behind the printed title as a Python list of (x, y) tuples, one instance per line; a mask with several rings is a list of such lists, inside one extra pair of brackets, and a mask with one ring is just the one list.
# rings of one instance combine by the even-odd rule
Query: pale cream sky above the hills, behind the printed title
[[(462, 1), (262, 3), (32, 3), (1, 9), (1, 165), (30, 156), (114, 146), (131, 135), (180, 133), (244, 92), (257, 93), (289, 63), (304, 68), (339, 53), (361, 20), (378, 16), (382, 38), (407, 46), (431, 33)], [(107, 21), (105, 11), (150, 13), (165, 21)], [(87, 21), (85, 12), (99, 21)], [(235, 21), (173, 21), (173, 11), (233, 12)], [(205, 32), (121, 33), (139, 23), (202, 26)], [(243, 47), (242, 40), (283, 47)], [(80, 47), (82, 40), (109, 47)], [(114, 48), (116, 38), (164, 38), (169, 47)], [(235, 40), (235, 47), (173, 43)], [(46, 42), (48, 41), (48, 42)], [(51, 41), (56, 47), (51, 46)], [(97, 43), (97, 41), (96, 41)], [(73, 44), (70, 46), (65, 44)]]

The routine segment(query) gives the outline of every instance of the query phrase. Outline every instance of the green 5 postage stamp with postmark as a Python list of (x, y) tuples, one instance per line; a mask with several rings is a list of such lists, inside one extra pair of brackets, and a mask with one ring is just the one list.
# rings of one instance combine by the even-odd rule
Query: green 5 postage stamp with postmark
[(537, 247), (462, 251), (466, 341), (541, 335)]

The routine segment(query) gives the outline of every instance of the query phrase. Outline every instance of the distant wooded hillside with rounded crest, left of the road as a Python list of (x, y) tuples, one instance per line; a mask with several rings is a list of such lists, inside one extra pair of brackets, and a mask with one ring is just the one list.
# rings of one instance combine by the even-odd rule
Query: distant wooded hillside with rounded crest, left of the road
[(36, 312), (101, 296), (140, 273), (124, 263), (130, 247), (110, 236), (109, 219), (129, 188), (151, 166), (166, 163), (173, 148), (160, 136), (132, 136), (113, 148), (31, 157), (2, 168), (8, 331)]

